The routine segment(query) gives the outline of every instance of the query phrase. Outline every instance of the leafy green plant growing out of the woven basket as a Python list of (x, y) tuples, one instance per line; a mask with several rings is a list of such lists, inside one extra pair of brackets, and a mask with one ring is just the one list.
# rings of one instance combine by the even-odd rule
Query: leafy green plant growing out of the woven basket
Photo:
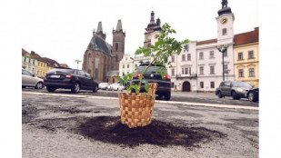
[[(168, 61), (168, 58), (176, 52), (176, 54), (180, 54), (182, 51), (182, 44), (187, 44), (189, 41), (186, 39), (183, 42), (176, 41), (175, 38), (170, 37), (170, 35), (176, 34), (176, 30), (172, 29), (170, 25), (165, 24), (162, 25), (162, 30), (160, 31), (159, 35), (156, 35), (157, 41), (155, 44), (151, 44), (149, 47), (140, 46), (136, 51), (135, 54), (143, 54), (145, 57), (150, 56), (151, 62), (146, 66), (145, 70), (142, 72), (138, 72), (138, 84), (128, 84), (126, 85), (126, 92), (129, 93), (132, 89), (135, 90), (136, 94), (140, 94), (141, 84), (145, 83), (146, 93), (141, 93), (142, 95), (146, 95), (149, 84), (146, 82), (146, 78), (144, 74), (146, 73), (147, 69), (152, 65), (163, 65), (156, 68), (156, 74), (160, 73), (162, 78), (166, 74), (165, 66), (172, 67), (171, 62)], [(135, 68), (135, 71), (138, 67)], [(133, 76), (136, 73), (125, 74), (124, 76), (118, 76), (118, 81), (120, 84), (127, 84), (129, 80), (132, 81)]]

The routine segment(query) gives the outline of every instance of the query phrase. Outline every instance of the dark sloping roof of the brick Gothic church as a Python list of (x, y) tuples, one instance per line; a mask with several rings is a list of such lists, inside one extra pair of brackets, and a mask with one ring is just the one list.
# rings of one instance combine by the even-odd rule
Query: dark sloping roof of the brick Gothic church
[(99, 37), (98, 35), (96, 34), (93, 35), (90, 44), (92, 44), (94, 51), (100, 51), (103, 52), (104, 54), (113, 56), (112, 46), (106, 43), (106, 41), (101, 37)]

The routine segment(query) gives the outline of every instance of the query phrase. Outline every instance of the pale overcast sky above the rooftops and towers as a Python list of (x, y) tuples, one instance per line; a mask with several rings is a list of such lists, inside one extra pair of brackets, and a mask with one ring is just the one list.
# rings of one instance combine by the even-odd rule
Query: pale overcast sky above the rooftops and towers
[[(144, 43), (152, 10), (161, 25), (168, 23), (176, 29), (179, 41), (216, 38), (221, 0), (25, 0), (24, 5), (20, 19), (22, 47), (75, 68), (75, 59), (83, 60), (98, 22), (102, 22), (106, 42), (112, 44), (112, 30), (121, 19), (125, 54), (134, 55)], [(235, 34), (259, 26), (257, 0), (228, 0), (228, 6), (235, 14)]]

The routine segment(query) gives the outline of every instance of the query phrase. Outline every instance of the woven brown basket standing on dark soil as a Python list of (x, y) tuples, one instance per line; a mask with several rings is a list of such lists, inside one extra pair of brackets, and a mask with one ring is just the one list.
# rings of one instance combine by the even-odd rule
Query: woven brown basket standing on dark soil
[(121, 123), (127, 124), (129, 128), (150, 124), (155, 104), (156, 88), (156, 83), (150, 84), (146, 96), (135, 93), (118, 94)]

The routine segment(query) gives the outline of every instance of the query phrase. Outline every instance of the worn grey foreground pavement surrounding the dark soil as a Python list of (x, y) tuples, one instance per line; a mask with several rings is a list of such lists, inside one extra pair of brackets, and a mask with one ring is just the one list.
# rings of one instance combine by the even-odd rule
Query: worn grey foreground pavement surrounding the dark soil
[(258, 157), (256, 110), (155, 104), (153, 123), (212, 132), (190, 146), (127, 146), (95, 140), (78, 130), (93, 118), (118, 118), (119, 113), (117, 100), (23, 94), (23, 157)]

